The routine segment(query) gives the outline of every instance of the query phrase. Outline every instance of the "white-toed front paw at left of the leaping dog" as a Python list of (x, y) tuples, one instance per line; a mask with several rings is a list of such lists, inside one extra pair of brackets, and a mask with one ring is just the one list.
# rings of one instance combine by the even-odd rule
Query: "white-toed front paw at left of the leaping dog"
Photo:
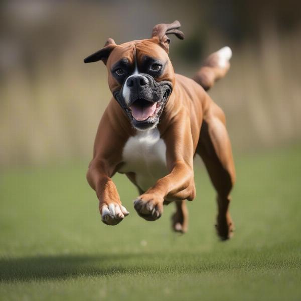
[(104, 204), (100, 208), (101, 220), (110, 226), (119, 224), (129, 212), (121, 204)]

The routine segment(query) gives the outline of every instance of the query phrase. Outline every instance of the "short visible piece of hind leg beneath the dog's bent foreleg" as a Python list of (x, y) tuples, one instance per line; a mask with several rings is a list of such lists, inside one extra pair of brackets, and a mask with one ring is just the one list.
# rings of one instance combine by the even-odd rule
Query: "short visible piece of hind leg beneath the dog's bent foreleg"
[(186, 200), (178, 200), (174, 203), (176, 205), (176, 212), (172, 215), (172, 229), (175, 232), (186, 233), (188, 229)]

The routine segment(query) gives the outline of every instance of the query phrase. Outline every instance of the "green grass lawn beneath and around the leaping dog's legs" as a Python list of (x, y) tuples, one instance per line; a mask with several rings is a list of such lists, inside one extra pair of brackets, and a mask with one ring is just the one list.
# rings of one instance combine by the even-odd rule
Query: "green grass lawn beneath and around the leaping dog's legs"
[(0, 299), (300, 300), (301, 147), (236, 158), (235, 236), (218, 241), (214, 191), (196, 168), (189, 232), (135, 213), (137, 193), (115, 177), (130, 211), (100, 221), (84, 164), (2, 171)]

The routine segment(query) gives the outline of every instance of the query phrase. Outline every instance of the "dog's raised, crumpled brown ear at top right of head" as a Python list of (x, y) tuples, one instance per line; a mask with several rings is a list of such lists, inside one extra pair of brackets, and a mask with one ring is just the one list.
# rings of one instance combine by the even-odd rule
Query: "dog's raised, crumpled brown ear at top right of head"
[(153, 27), (152, 38), (157, 37), (159, 45), (168, 53), (170, 39), (167, 35), (174, 34), (177, 38), (183, 40), (184, 34), (179, 30), (181, 24), (178, 20), (173, 23), (161, 23)]

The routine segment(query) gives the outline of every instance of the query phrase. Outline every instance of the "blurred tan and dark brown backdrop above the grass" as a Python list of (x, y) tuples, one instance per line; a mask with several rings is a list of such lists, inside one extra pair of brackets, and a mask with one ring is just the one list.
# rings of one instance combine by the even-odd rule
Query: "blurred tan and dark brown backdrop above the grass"
[(211, 52), (233, 50), (210, 91), (225, 111), (235, 153), (301, 138), (301, 4), (259, 1), (0, 2), (0, 166), (88, 160), (108, 101), (106, 68), (83, 59), (181, 22), (172, 37), (176, 72), (192, 76)]

